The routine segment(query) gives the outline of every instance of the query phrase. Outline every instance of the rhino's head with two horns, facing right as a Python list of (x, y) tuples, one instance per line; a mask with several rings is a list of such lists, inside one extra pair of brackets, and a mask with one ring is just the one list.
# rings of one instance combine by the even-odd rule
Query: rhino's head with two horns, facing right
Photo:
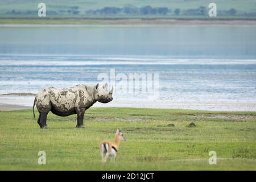
[(96, 101), (101, 103), (108, 103), (113, 100), (112, 93), (113, 93), (113, 86), (110, 91), (108, 91), (108, 83), (105, 83), (103, 86), (100, 86), (100, 84), (97, 84), (95, 86), (95, 94), (94, 98)]

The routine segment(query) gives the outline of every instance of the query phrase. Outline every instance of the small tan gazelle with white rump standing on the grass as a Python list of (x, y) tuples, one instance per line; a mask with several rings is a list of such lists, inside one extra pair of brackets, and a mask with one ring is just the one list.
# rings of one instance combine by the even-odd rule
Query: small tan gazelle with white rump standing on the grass
[(101, 147), (102, 163), (105, 163), (108, 160), (109, 156), (112, 161), (115, 160), (121, 140), (125, 141), (126, 138), (122, 134), (122, 132), (119, 129), (117, 129), (117, 133), (115, 133), (114, 142), (110, 142), (109, 140), (101, 141), (100, 147)]

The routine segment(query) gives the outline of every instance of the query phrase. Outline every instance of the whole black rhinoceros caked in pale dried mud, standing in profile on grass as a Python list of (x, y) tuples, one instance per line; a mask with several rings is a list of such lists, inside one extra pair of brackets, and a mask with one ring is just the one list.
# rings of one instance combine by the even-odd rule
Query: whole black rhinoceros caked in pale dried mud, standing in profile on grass
[(35, 97), (33, 105), (39, 111), (38, 125), (41, 129), (47, 129), (46, 119), (49, 111), (59, 116), (77, 114), (76, 127), (84, 127), (85, 110), (95, 102), (108, 103), (113, 100), (113, 87), (108, 91), (108, 84), (100, 86), (76, 85), (68, 89), (56, 89), (49, 87), (41, 90)]

